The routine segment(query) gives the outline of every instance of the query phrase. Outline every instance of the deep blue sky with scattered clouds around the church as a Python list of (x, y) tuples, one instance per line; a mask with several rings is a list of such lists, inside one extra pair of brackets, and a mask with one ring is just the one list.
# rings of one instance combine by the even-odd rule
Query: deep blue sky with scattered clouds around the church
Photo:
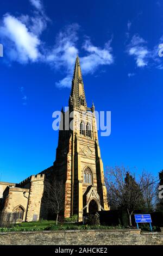
[(87, 105), (111, 111), (104, 167), (163, 169), (163, 1), (2, 0), (0, 43), (1, 181), (53, 164), (52, 113), (68, 104), (77, 53)]

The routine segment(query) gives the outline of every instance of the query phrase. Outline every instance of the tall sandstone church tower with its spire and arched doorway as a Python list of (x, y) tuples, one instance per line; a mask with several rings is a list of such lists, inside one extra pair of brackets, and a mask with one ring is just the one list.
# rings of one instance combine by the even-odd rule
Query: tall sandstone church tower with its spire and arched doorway
[(69, 111), (62, 109), (54, 170), (65, 180), (65, 217), (78, 214), (82, 221), (83, 212), (109, 210), (95, 106), (87, 107), (78, 56)]

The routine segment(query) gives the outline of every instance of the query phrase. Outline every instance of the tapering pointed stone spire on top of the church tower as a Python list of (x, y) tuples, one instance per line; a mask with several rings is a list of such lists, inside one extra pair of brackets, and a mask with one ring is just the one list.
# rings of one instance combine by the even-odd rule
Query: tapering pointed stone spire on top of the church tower
[(86, 110), (87, 108), (82, 71), (80, 68), (80, 60), (78, 55), (74, 67), (69, 106), (73, 108), (80, 108), (82, 110)]

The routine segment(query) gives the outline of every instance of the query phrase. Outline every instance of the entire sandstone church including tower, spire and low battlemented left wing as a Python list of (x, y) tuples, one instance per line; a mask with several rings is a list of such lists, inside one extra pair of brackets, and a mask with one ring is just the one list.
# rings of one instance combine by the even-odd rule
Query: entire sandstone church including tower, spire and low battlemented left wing
[[(78, 221), (83, 221), (83, 212), (109, 210), (95, 106), (87, 107), (78, 56), (68, 106), (68, 112), (63, 108), (61, 111), (61, 129), (53, 166), (19, 184), (0, 182), (1, 216), (16, 213), (17, 222), (48, 219), (42, 197), (46, 179), (50, 179), (52, 174), (64, 182), (65, 218), (77, 214)], [(67, 129), (67, 116), (71, 129)]]

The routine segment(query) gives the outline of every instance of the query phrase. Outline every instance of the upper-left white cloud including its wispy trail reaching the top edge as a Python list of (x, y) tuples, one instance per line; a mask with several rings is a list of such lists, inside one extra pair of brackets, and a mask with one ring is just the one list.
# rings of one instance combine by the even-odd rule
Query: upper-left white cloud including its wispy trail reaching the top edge
[(30, 0), (30, 3), (36, 8), (32, 16), (14, 17), (5, 14), (0, 23), (0, 38), (11, 62), (26, 64), (42, 58), (40, 48), (43, 42), (40, 35), (46, 29), (49, 19), (43, 11), (42, 1)]

